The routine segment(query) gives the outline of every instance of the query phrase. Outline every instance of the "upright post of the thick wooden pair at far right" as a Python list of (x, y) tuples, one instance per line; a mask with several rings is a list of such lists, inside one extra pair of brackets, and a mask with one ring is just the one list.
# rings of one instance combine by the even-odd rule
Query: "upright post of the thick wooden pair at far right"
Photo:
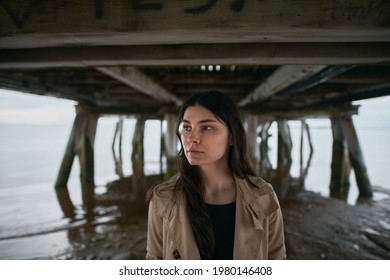
[(350, 163), (348, 147), (344, 137), (340, 118), (331, 118), (333, 148), (330, 177), (330, 193), (332, 197), (347, 199), (349, 190)]

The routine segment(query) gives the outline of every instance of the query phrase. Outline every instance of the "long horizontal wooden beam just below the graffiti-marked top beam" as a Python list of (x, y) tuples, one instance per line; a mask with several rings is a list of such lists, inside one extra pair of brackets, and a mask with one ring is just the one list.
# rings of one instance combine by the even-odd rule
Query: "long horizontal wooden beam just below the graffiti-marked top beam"
[(390, 43), (248, 43), (0, 49), (0, 69), (168, 66), (333, 65), (390, 61)]

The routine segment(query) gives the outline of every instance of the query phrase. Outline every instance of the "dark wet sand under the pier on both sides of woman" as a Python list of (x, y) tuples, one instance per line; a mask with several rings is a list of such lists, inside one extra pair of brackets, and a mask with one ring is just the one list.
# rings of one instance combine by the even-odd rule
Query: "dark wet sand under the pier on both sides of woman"
[[(144, 194), (131, 189), (129, 180), (114, 182), (97, 196), (96, 219), (60, 230), (69, 241), (65, 250), (36, 258), (144, 259), (147, 207), (140, 199)], [(352, 206), (301, 191), (281, 205), (290, 260), (390, 259), (390, 198)]]

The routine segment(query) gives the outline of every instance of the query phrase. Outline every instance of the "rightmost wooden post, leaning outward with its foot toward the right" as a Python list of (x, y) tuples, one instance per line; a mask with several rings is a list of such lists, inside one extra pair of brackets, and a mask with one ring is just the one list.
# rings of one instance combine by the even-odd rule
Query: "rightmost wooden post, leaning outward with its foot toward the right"
[(340, 119), (340, 121), (342, 122), (343, 134), (348, 145), (349, 158), (355, 172), (359, 196), (372, 197), (372, 186), (368, 178), (367, 167), (364, 162), (363, 153), (360, 148), (352, 117), (345, 117)]

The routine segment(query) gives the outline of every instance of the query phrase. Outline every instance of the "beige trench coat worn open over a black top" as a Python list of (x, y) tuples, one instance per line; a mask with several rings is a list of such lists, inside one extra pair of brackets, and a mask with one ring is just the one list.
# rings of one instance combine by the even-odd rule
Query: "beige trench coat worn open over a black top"
[[(184, 193), (176, 197), (176, 178), (159, 185), (149, 203), (147, 259), (200, 259), (187, 216)], [(235, 178), (237, 184), (234, 259), (285, 259), (283, 218), (272, 186), (260, 177)]]

